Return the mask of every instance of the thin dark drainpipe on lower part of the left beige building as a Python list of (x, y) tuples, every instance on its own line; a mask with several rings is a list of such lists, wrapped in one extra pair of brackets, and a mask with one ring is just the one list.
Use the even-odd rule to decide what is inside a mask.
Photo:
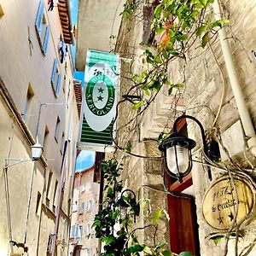
[(61, 218), (61, 202), (63, 197), (63, 191), (64, 191), (64, 184), (65, 184), (65, 162), (67, 158), (67, 143), (68, 141), (64, 143), (64, 151), (63, 151), (63, 157), (62, 157), (62, 163), (61, 163), (61, 185), (59, 190), (59, 201), (56, 208), (56, 219), (55, 219), (55, 232), (52, 239), (52, 251), (51, 256), (55, 256), (55, 249), (56, 249), (56, 241), (58, 236), (58, 230), (59, 230), (59, 224), (60, 224), (60, 218)]

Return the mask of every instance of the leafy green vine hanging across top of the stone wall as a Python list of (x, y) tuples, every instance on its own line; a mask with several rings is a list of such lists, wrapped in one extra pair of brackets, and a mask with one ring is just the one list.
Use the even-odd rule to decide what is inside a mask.
[[(184, 84), (175, 84), (169, 80), (167, 68), (171, 61), (181, 58), (187, 60), (186, 53), (192, 45), (199, 44), (202, 49), (216, 35), (218, 29), (229, 20), (212, 20), (211, 4), (214, 0), (155, 0), (154, 15), (151, 19), (151, 35), (154, 38), (165, 37), (155, 42), (154, 50), (145, 49), (144, 55), (148, 68), (142, 73), (135, 74), (133, 88), (143, 90), (145, 98), (134, 102), (134, 109), (147, 108), (152, 93), (159, 91), (163, 85), (173, 88), (183, 88)], [(125, 3), (123, 15), (134, 19), (141, 1), (128, 0)], [(156, 40), (157, 41), (157, 40)], [(156, 50), (155, 50), (156, 49)], [(185, 82), (185, 81), (184, 81)]]

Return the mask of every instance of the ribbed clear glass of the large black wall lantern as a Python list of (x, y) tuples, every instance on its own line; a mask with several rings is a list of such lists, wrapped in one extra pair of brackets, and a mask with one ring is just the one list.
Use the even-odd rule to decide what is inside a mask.
[(175, 175), (187, 172), (190, 165), (188, 145), (177, 144), (166, 148), (166, 163), (169, 171)]

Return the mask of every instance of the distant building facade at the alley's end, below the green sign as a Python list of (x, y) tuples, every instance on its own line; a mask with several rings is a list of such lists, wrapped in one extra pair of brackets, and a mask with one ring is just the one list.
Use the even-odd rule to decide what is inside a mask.
[(100, 184), (94, 182), (95, 166), (76, 172), (69, 255), (98, 255), (98, 240), (92, 224), (98, 211)]

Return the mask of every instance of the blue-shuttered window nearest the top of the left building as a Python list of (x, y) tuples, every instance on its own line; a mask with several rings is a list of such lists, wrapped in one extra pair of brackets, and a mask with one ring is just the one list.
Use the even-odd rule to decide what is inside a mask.
[(46, 18), (44, 15), (44, 0), (40, 0), (35, 27), (41, 51), (43, 55), (46, 55), (49, 41), (49, 26), (47, 25)]

